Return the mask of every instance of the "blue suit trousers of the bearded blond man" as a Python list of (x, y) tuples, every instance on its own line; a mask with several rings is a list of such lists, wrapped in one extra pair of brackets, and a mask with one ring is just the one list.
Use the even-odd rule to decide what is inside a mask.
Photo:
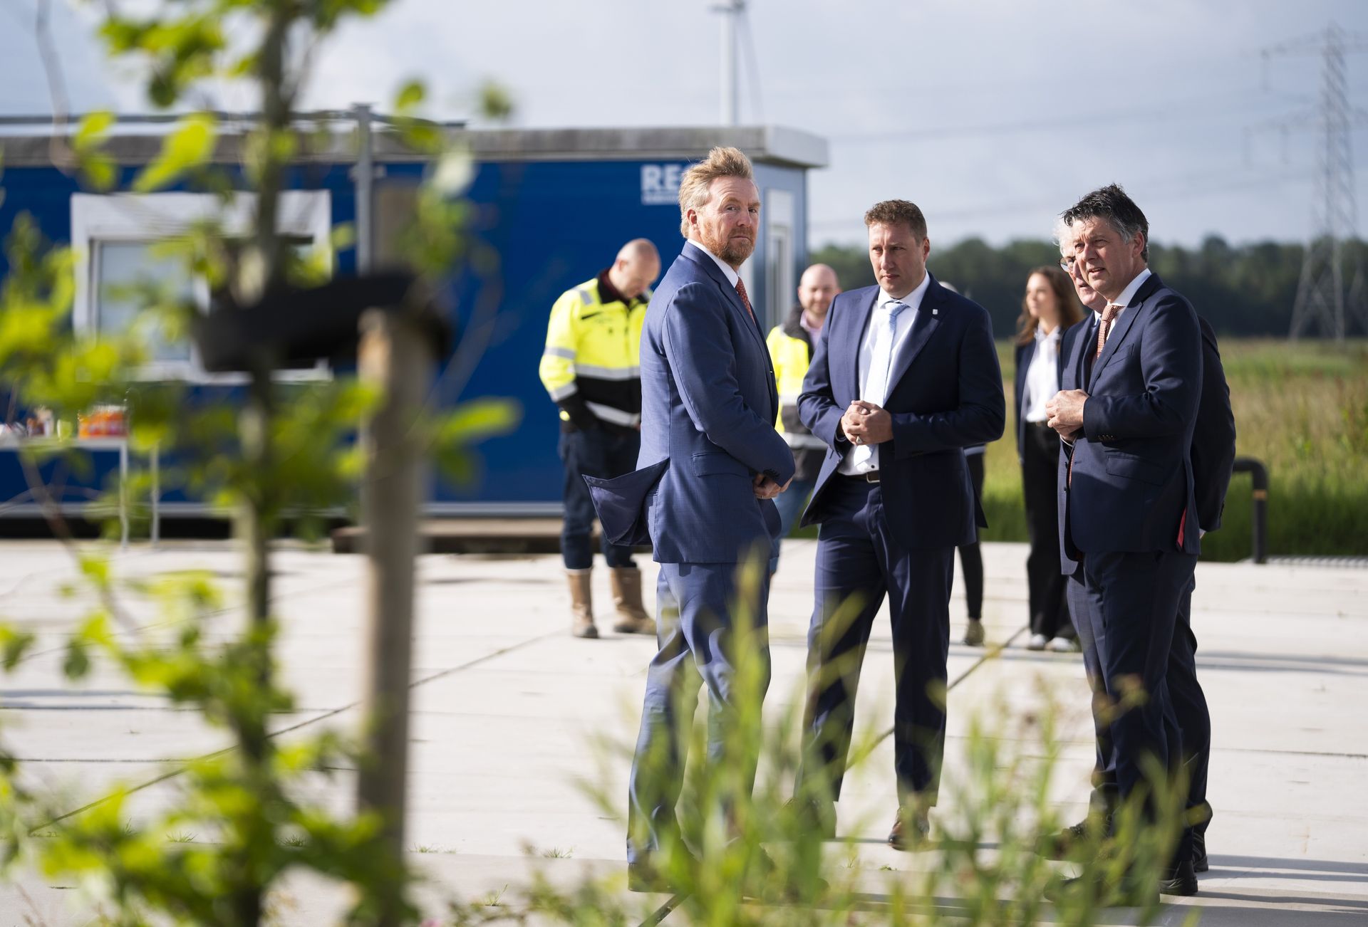
[[(655, 640), (646, 670), (642, 729), (628, 781), (627, 859), (648, 857), (680, 838), (674, 805), (688, 763), (699, 682), (707, 686), (707, 762), (750, 796), (755, 781), (761, 701), (769, 688), (769, 572), (759, 570), (758, 600), (735, 614), (739, 563), (661, 563), (655, 584)], [(744, 625), (743, 625), (744, 622)], [(750, 658), (741, 659), (739, 648)], [(739, 706), (754, 686), (755, 704)], [(754, 730), (739, 729), (754, 726)], [(740, 752), (740, 755), (737, 755)]]

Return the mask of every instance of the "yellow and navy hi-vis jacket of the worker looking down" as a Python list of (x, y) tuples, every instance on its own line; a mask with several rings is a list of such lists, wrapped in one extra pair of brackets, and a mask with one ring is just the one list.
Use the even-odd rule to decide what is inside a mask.
[(570, 420), (565, 403), (577, 397), (601, 421), (625, 428), (642, 422), (642, 324), (650, 297), (602, 302), (594, 278), (551, 306), (538, 373), (564, 421)]

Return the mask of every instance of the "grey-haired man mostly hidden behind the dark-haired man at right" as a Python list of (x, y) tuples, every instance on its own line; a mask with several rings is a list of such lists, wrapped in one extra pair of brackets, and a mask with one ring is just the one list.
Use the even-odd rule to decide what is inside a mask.
[[(1148, 227), (1141, 230), (1149, 234)], [(1093, 290), (1083, 278), (1082, 271), (1074, 261), (1068, 246), (1068, 227), (1060, 223), (1056, 228), (1056, 238), (1060, 242), (1063, 260), (1060, 264), (1068, 271), (1074, 283), (1074, 290), (1079, 301), (1094, 313), (1101, 313), (1107, 306), (1107, 297)], [(1201, 316), (1197, 317), (1201, 327), (1202, 346), (1202, 384), (1201, 399), (1197, 406), (1197, 425), (1193, 429), (1193, 443), (1190, 458), (1193, 466), (1193, 483), (1197, 495), (1197, 520), (1201, 525), (1201, 535), (1220, 528), (1220, 515), (1226, 506), (1226, 489), (1230, 487), (1231, 469), (1235, 462), (1235, 417), (1230, 407), (1230, 386), (1226, 383), (1226, 371), (1220, 362), (1220, 350), (1216, 345), (1216, 332)], [(1090, 324), (1079, 325), (1073, 336), (1096, 335)], [(1073, 338), (1070, 338), (1062, 351), (1067, 355)], [(1205, 872), (1207, 863), (1207, 826), (1211, 823), (1212, 809), (1207, 801), (1207, 770), (1211, 763), (1211, 712), (1207, 708), (1207, 696), (1197, 681), (1197, 637), (1192, 629), (1192, 593), (1196, 580), (1189, 584), (1178, 603), (1178, 621), (1174, 629), (1174, 644), (1168, 654), (1168, 695), (1174, 708), (1174, 719), (1178, 723), (1182, 738), (1183, 762), (1187, 771), (1187, 814), (1193, 824), (1193, 870)], [(1089, 639), (1083, 648), (1083, 663), (1088, 669), (1089, 685), (1094, 692), (1103, 692), (1101, 674), (1099, 669), (1097, 647)], [(1099, 719), (1094, 719), (1099, 721)], [(1108, 725), (1097, 723), (1097, 762), (1093, 770), (1093, 794), (1090, 815), (1096, 822), (1105, 826), (1105, 819), (1118, 805), (1116, 800), (1116, 762), (1111, 751), (1111, 733)], [(1070, 848), (1086, 839), (1090, 827), (1089, 820), (1066, 827), (1060, 834), (1041, 842), (1041, 850), (1047, 855), (1062, 859)]]

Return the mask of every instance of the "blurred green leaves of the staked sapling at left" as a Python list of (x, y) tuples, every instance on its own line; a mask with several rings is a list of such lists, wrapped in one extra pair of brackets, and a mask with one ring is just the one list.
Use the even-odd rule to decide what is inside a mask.
[[(190, 279), (207, 284), (212, 310), (231, 312), (269, 287), (311, 286), (331, 272), (334, 254), (295, 247), (275, 223), (285, 171), (308, 146), (332, 144), (327, 126), (295, 124), (291, 108), (312, 46), (342, 22), (386, 5), (386, 0), (152, 0), (103, 10), (109, 52), (145, 66), (146, 92), (156, 105), (181, 104), (208, 81), (249, 81), (260, 92), (264, 118), (242, 135), (238, 170), (219, 159), (218, 120), (192, 112), (130, 185), (138, 193), (168, 187), (208, 193), (224, 208), (244, 187), (254, 194), (250, 228), (230, 228), (223, 216), (212, 216), (190, 221), (153, 249), (156, 258), (174, 258)], [(394, 130), (432, 157), (415, 231), (405, 239), (413, 268), (428, 278), (419, 290), (431, 293), (435, 279), (458, 272), (472, 254), (461, 198), (472, 170), (466, 153), (447, 150), (439, 126), (416, 115), (424, 97), (419, 82), (401, 88)], [(484, 98), (492, 101), (491, 109), (497, 104), (508, 111), (506, 97), (486, 92)], [(79, 179), (97, 191), (111, 190), (118, 179), (104, 150), (112, 126), (109, 113), (90, 115), (71, 142)], [(341, 230), (332, 245), (350, 241)], [(267, 614), (269, 543), (286, 520), (316, 537), (326, 518), (354, 503), (364, 476), (356, 433), (380, 407), (376, 387), (346, 371), (278, 380), (261, 346), (246, 388), (155, 379), (146, 366), (155, 360), (149, 346), (185, 345), (201, 306), (166, 280), (146, 278), (112, 294), (142, 308), (127, 331), (78, 331), (71, 324), (70, 249), (42, 241), (26, 215), (16, 219), (5, 247), (0, 381), (11, 390), (12, 410), (41, 409), (60, 422), (56, 436), (19, 446), (30, 488), (53, 529), (68, 537), (55, 505), (60, 487), (45, 481), (41, 468), (51, 458), (79, 468), (83, 454), (70, 440), (77, 417), (96, 403), (115, 403), (127, 410), (133, 447), (144, 453), (155, 447), (167, 461), (163, 492), (183, 489), (238, 513), (248, 562), (244, 615), (241, 606), (228, 607), (209, 577), (172, 574), (120, 587), (108, 561), (73, 546), (79, 578), (70, 589), (96, 604), (63, 647), (64, 673), (74, 682), (119, 673), (140, 690), (193, 710), (224, 731), (230, 745), (172, 767), (159, 782), (174, 781), (175, 794), (155, 811), (135, 808), (131, 793), (119, 792), (64, 811), (49, 792), (30, 789), (19, 764), (0, 751), (5, 861), (78, 881), (94, 896), (101, 923), (257, 924), (269, 916), (272, 886), (298, 870), (352, 887), (349, 923), (413, 922), (412, 876), (386, 853), (379, 818), (338, 815), (301, 797), (328, 770), (357, 768), (368, 757), (334, 733), (293, 736), (287, 744), (271, 736), (272, 718), (293, 711), (294, 700), (276, 682), (278, 626)], [(475, 446), (510, 429), (518, 414), (498, 399), (425, 412), (416, 425), (425, 439), (420, 453), (465, 480), (479, 474)], [(112, 515), (115, 494), (140, 494), (146, 485), (148, 474), (137, 473), (127, 485), (111, 487), (92, 511)], [(123, 611), (127, 597), (155, 603), (161, 621), (135, 622)], [(0, 626), (5, 670), (21, 667), (33, 648), (30, 632)]]

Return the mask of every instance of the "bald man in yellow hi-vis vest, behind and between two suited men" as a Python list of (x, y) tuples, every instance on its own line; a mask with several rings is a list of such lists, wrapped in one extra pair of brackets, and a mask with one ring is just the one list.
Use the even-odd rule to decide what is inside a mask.
[(803, 392), (803, 377), (813, 361), (813, 346), (822, 332), (826, 310), (832, 299), (841, 291), (836, 271), (825, 264), (814, 264), (798, 283), (798, 305), (789, 312), (782, 325), (776, 325), (765, 343), (769, 345), (774, 361), (774, 384), (778, 387), (778, 433), (793, 450), (793, 481), (785, 492), (774, 499), (778, 506), (780, 533), (770, 551), (770, 573), (778, 569), (780, 540), (788, 536), (807, 496), (817, 483), (817, 472), (822, 468), (826, 444), (807, 429), (798, 417), (798, 397)]

